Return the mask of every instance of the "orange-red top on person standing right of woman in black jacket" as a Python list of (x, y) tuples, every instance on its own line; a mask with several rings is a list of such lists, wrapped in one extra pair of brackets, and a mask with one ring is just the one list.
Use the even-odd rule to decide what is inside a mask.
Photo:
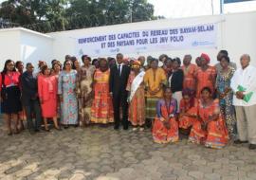
[(197, 66), (195, 64), (190, 64), (188, 67), (185, 65), (182, 66), (182, 70), (184, 73), (183, 80), (183, 89), (192, 89), (195, 90), (195, 73), (197, 70)]

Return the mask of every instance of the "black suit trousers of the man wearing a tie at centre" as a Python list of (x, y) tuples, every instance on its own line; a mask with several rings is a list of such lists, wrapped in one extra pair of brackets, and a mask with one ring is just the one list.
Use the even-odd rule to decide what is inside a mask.
[(120, 107), (122, 108), (122, 125), (123, 128), (128, 128), (128, 102), (127, 102), (128, 93), (122, 92), (119, 94), (113, 95), (113, 106), (114, 106), (114, 120), (115, 127), (119, 127), (120, 123)]

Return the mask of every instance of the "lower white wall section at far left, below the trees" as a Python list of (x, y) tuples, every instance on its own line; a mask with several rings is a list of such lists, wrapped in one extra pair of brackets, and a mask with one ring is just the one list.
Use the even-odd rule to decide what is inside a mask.
[(53, 57), (53, 38), (25, 28), (0, 30), (0, 71), (6, 60), (33, 63), (39, 60), (51, 62)]

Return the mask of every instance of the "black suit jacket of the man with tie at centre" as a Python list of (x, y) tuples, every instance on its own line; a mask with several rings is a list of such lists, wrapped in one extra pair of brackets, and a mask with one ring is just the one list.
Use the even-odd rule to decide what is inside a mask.
[(122, 65), (121, 75), (119, 75), (118, 65), (114, 65), (110, 69), (109, 78), (109, 92), (113, 93), (113, 96), (119, 95), (119, 93), (127, 93), (126, 85), (130, 75), (130, 67), (128, 65)]

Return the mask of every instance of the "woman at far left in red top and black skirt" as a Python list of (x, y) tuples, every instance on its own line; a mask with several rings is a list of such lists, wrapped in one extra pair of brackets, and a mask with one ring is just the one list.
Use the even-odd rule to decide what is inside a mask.
[(7, 123), (8, 135), (12, 135), (11, 118), (14, 121), (14, 134), (19, 133), (18, 113), (22, 110), (21, 91), (20, 91), (20, 73), (16, 72), (13, 61), (8, 60), (5, 63), (4, 70), (0, 77), (1, 108)]

